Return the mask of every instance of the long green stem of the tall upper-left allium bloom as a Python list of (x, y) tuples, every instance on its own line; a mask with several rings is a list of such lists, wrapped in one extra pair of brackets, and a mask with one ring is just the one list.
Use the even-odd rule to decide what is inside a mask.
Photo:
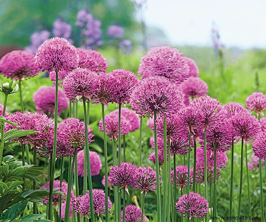
[(58, 118), (58, 71), (56, 71), (54, 144), (53, 144), (53, 153), (52, 153), (52, 163), (50, 169), (49, 204), (48, 204), (49, 220), (53, 219), (53, 189), (54, 189), (55, 167), (56, 167), (57, 118)]

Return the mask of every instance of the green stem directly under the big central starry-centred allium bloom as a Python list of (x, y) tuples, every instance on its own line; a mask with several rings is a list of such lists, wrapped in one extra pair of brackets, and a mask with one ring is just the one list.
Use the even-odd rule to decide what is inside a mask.
[(161, 206), (161, 188), (160, 188), (160, 168), (158, 158), (158, 144), (157, 144), (157, 126), (156, 126), (156, 111), (154, 111), (154, 146), (155, 146), (155, 165), (156, 165), (156, 186), (157, 186), (157, 220), (162, 222), (162, 206)]

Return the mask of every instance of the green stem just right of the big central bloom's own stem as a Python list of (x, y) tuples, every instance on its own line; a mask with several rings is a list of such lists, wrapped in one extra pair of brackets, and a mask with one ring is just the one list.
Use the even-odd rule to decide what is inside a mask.
[[(168, 144), (169, 146), (169, 144)], [(166, 221), (167, 203), (169, 202), (168, 194), (168, 174), (167, 174), (167, 132), (166, 132), (166, 118), (163, 118), (163, 219)]]

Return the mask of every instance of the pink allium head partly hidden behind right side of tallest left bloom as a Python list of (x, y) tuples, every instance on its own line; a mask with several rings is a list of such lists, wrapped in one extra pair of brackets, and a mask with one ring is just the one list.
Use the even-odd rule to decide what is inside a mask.
[(104, 72), (108, 68), (108, 63), (103, 55), (92, 49), (77, 48), (79, 56), (79, 67), (88, 68), (94, 72)]

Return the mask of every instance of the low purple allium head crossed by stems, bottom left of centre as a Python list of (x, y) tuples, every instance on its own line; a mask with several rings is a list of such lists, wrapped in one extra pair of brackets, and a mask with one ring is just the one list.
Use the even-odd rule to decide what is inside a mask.
[[(105, 215), (105, 193), (102, 189), (92, 189), (94, 213), (99, 217)], [(73, 209), (83, 216), (90, 217), (89, 190), (85, 195), (78, 196), (73, 200)], [(112, 202), (108, 197), (108, 213), (111, 212)]]

